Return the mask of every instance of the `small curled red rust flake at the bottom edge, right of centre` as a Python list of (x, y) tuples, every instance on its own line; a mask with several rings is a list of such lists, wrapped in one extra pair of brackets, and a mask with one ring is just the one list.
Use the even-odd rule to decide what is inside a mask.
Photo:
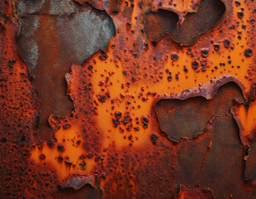
[(214, 197), (210, 190), (200, 189), (199, 187), (188, 189), (182, 185), (180, 186), (180, 193), (175, 196), (175, 199), (214, 199)]

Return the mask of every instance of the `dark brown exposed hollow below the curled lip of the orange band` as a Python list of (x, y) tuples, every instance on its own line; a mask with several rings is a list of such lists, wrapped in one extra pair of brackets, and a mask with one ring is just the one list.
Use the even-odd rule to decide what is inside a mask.
[(194, 138), (203, 133), (206, 124), (214, 115), (229, 113), (234, 101), (244, 102), (238, 85), (228, 83), (219, 88), (213, 99), (194, 97), (182, 101), (180, 99), (160, 99), (155, 105), (157, 117), (162, 131), (168, 138), (180, 141), (181, 138)]

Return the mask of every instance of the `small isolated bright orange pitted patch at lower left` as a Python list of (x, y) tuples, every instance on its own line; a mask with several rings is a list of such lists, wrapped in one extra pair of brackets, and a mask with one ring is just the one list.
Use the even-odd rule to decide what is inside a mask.
[[(49, 163), (56, 168), (61, 178), (67, 177), (71, 172), (91, 172), (95, 162), (93, 159), (81, 158), (83, 149), (80, 132), (76, 124), (71, 125), (70, 129), (57, 130), (57, 142), (53, 143), (52, 147), (47, 143), (44, 143), (41, 148), (36, 147), (32, 151), (31, 159), (39, 164)], [(42, 155), (45, 155), (45, 159)]]

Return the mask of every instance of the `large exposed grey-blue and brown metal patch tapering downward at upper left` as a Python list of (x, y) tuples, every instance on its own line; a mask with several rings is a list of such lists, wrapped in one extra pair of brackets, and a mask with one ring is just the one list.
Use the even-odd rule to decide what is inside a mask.
[(17, 13), (22, 17), (19, 51), (40, 99), (39, 134), (46, 140), (52, 138), (49, 116), (65, 116), (73, 109), (65, 74), (72, 64), (104, 49), (115, 26), (106, 12), (71, 1), (19, 1)]

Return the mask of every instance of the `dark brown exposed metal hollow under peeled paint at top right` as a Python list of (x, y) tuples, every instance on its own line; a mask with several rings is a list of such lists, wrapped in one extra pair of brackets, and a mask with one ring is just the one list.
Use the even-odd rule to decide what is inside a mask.
[(175, 12), (159, 10), (150, 12), (145, 17), (145, 32), (151, 41), (158, 41), (163, 33), (169, 33), (180, 45), (190, 46), (200, 34), (219, 22), (224, 15), (224, 3), (219, 0), (203, 0), (195, 13), (188, 13), (178, 27)]

